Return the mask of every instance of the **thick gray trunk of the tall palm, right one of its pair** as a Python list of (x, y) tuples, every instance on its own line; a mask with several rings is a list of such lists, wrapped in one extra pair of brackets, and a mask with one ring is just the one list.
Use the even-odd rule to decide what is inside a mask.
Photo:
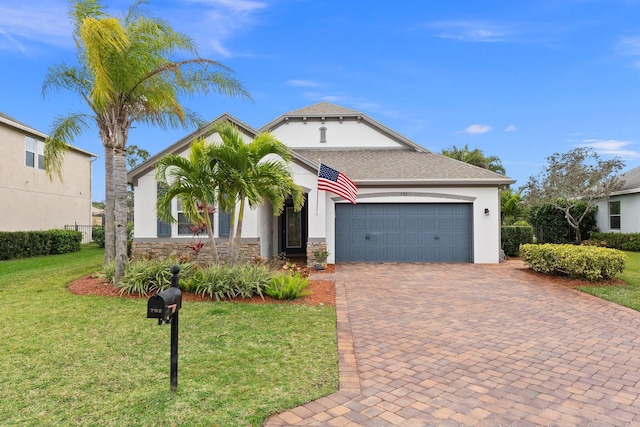
[(114, 284), (118, 284), (127, 266), (127, 165), (124, 144), (113, 152), (113, 183), (115, 193), (116, 272)]

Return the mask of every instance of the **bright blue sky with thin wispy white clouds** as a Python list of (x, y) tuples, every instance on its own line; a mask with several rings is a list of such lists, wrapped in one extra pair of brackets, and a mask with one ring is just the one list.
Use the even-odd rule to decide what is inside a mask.
[[(103, 1), (120, 16), (130, 1)], [(259, 128), (320, 101), (362, 111), (440, 152), (498, 156), (524, 185), (546, 158), (591, 146), (640, 165), (638, 0), (151, 0), (145, 10), (231, 67), (253, 102), (184, 99), (204, 119), (227, 112)], [(48, 67), (75, 63), (67, 0), (0, 0), (0, 111), (47, 133), (87, 111), (42, 96)], [(186, 55), (180, 58), (187, 58)], [(155, 154), (193, 129), (136, 127)], [(97, 131), (73, 144), (102, 155)], [(93, 200), (104, 198), (102, 157)], [(0, 183), (1, 185), (1, 183)]]

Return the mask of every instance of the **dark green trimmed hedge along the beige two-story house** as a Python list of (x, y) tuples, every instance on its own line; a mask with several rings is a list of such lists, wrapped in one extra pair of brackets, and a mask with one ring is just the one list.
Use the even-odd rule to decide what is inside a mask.
[(56, 255), (80, 250), (82, 233), (73, 230), (0, 232), (0, 260)]

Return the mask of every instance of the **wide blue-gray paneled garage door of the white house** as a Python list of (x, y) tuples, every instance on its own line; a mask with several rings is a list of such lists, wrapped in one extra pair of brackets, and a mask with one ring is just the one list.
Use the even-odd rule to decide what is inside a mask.
[(470, 203), (336, 205), (337, 262), (471, 262)]

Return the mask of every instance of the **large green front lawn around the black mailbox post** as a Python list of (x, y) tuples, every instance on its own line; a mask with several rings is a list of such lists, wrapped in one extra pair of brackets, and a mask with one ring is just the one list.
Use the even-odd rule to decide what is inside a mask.
[(146, 299), (65, 289), (102, 258), (0, 262), (2, 424), (259, 426), (337, 390), (333, 307), (185, 302), (171, 393), (171, 326)]

